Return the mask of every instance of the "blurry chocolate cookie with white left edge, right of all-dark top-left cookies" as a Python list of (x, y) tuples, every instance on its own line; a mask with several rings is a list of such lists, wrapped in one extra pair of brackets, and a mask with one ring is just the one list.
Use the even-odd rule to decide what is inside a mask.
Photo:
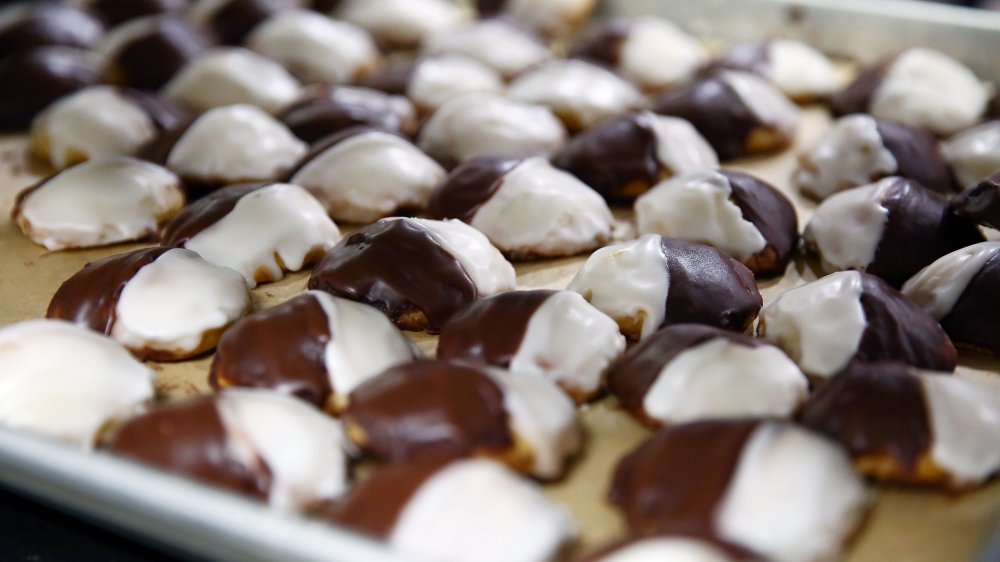
[(153, 16), (115, 27), (94, 50), (126, 85), (158, 90), (212, 42), (208, 34), (180, 18)]

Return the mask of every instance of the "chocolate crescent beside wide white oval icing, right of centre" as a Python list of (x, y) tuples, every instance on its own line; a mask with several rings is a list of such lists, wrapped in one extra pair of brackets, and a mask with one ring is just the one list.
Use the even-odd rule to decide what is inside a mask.
[(618, 397), (622, 408), (647, 425), (660, 426), (659, 422), (649, 419), (644, 413), (643, 400), (646, 393), (660, 376), (660, 371), (677, 355), (715, 338), (726, 338), (746, 347), (766, 345), (760, 339), (711, 326), (667, 326), (654, 332), (622, 356), (608, 373), (608, 388)]

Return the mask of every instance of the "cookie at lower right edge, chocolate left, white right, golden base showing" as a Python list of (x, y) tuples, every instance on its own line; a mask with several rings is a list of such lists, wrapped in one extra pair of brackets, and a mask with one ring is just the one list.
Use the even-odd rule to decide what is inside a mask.
[(902, 363), (852, 364), (806, 403), (802, 424), (887, 482), (983, 484), (1000, 470), (1000, 388)]

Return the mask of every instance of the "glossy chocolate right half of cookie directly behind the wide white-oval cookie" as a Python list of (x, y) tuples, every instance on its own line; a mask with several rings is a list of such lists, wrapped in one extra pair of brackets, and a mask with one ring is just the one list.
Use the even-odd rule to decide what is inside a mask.
[(763, 304), (753, 273), (719, 250), (663, 238), (670, 288), (663, 325), (706, 324), (746, 329)]

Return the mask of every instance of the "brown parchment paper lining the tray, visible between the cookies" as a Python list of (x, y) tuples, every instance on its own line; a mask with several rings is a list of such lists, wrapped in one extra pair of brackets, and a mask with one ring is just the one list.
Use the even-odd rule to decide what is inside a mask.
[[(796, 146), (801, 147), (823, 132), (830, 118), (825, 110), (807, 109)], [(800, 228), (815, 203), (789, 186), (796, 150), (768, 158), (731, 163), (733, 169), (756, 174), (783, 190), (798, 210)], [(9, 219), (14, 195), (47, 172), (26, 151), (23, 137), (0, 138), (0, 326), (41, 318), (49, 299), (63, 280), (88, 261), (127, 251), (140, 245), (70, 252), (47, 252), (21, 235)], [(627, 209), (616, 213), (627, 220)], [(348, 230), (348, 229), (345, 229)], [(989, 232), (991, 238), (1000, 238)], [(518, 264), (521, 289), (563, 289), (583, 263), (584, 257)], [(805, 260), (791, 264), (780, 279), (760, 283), (765, 303), (782, 291), (817, 277)], [(278, 304), (305, 290), (308, 272), (289, 275), (253, 291), (255, 309)], [(421, 350), (432, 356), (436, 339), (410, 334)], [(208, 392), (206, 382), (211, 359), (172, 364), (151, 364), (158, 373), (160, 398), (172, 400)], [(1000, 360), (961, 353), (960, 376), (1000, 384)], [(581, 531), (579, 552), (620, 538), (624, 525), (605, 502), (612, 470), (618, 459), (638, 445), (650, 432), (615, 407), (613, 398), (584, 406), (580, 419), (588, 433), (588, 444), (568, 477), (545, 486), (549, 495), (567, 506)], [(998, 444), (1000, 445), (1000, 444)], [(953, 495), (927, 490), (874, 486), (875, 507), (867, 524), (849, 549), (850, 562), (958, 562), (971, 560), (1000, 518), (1000, 482), (976, 492)], [(252, 530), (248, 530), (252, 532)]]

